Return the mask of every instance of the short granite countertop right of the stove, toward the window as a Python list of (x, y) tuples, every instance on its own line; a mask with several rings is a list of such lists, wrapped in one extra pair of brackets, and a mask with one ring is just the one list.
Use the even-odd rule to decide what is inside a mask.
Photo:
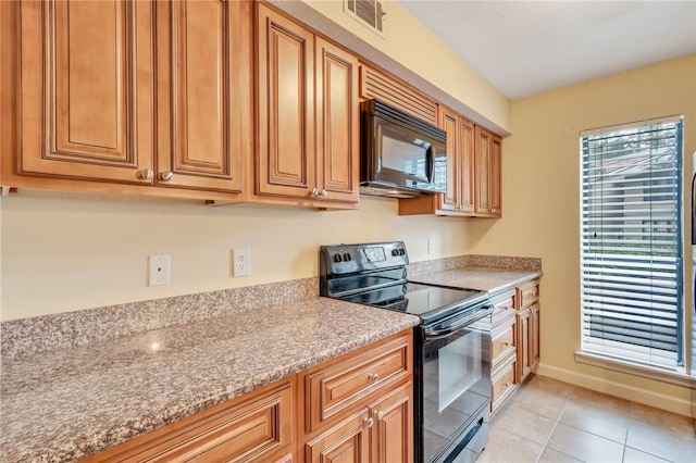
[(453, 268), (411, 277), (413, 281), (488, 291), (489, 295), (512, 288), (542, 276), (542, 271), (507, 270), (483, 266)]

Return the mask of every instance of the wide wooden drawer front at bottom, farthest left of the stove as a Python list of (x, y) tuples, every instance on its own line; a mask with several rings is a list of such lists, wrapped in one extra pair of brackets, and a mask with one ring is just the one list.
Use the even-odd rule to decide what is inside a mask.
[[(294, 383), (283, 381), (164, 426), (86, 462), (275, 461), (293, 442)], [(289, 454), (291, 458), (291, 453)]]

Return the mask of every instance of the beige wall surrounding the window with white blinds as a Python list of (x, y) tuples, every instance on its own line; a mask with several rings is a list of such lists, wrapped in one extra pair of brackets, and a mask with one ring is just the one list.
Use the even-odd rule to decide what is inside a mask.
[[(470, 221), (467, 243), (472, 253), (542, 258), (542, 362), (547, 374), (574, 383), (600, 380), (607, 388), (632, 386), (685, 404), (687, 389), (573, 359), (580, 347), (579, 133), (671, 114), (685, 116), (687, 191), (696, 150), (696, 55), (514, 101), (513, 135), (504, 140), (504, 218)], [(684, 224), (686, 234), (688, 201)], [(686, 251), (691, 262), (689, 246)], [(685, 267), (691, 275), (689, 265)]]

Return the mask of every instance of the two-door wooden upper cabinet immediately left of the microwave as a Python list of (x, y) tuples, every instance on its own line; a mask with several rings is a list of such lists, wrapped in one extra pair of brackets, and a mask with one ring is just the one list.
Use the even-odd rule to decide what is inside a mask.
[(257, 196), (355, 208), (357, 59), (261, 3), (257, 40)]

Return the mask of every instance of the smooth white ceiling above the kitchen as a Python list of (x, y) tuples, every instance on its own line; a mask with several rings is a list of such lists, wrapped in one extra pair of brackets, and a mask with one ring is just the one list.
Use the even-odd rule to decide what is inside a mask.
[(511, 99), (696, 53), (696, 0), (397, 1)]

